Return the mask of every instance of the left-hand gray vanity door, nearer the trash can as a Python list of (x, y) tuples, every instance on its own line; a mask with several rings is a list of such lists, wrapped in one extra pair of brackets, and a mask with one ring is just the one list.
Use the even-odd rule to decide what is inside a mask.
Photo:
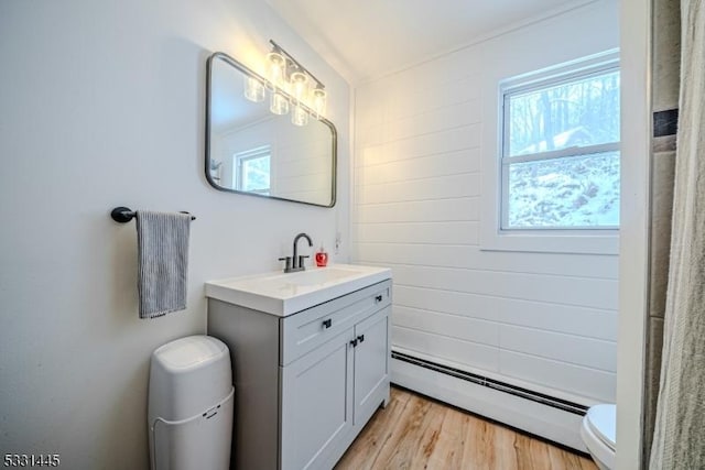
[(281, 368), (281, 469), (317, 468), (352, 428), (352, 328)]

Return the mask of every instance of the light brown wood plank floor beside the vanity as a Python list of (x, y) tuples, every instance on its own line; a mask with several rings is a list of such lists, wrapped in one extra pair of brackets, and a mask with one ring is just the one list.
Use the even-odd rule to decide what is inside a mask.
[(487, 422), (462, 409), (392, 387), (336, 470), (488, 469), (596, 470), (592, 460)]

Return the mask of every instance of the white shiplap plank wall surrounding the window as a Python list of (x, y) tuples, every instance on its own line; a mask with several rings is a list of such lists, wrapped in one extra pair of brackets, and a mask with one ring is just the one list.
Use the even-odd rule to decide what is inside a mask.
[(617, 47), (618, 21), (597, 1), (356, 89), (352, 258), (393, 267), (395, 349), (615, 401), (618, 256), (482, 250), (480, 233), (497, 81)]

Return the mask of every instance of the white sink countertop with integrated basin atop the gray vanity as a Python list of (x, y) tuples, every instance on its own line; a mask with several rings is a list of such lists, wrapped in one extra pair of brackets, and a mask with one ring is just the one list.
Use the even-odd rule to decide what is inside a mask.
[(286, 316), (391, 278), (388, 267), (334, 264), (296, 273), (231, 277), (206, 283), (206, 297)]

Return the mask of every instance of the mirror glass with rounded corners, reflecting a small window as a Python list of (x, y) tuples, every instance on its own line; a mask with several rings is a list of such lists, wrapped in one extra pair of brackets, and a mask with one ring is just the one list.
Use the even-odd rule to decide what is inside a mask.
[[(263, 100), (245, 98), (248, 79), (265, 84)], [(333, 207), (337, 133), (324, 118), (294, 125), (270, 112), (269, 83), (224, 53), (208, 58), (206, 178), (217, 189)], [(285, 96), (292, 100), (290, 96)], [(293, 107), (292, 107), (293, 108)], [(307, 108), (306, 108), (307, 109)]]

